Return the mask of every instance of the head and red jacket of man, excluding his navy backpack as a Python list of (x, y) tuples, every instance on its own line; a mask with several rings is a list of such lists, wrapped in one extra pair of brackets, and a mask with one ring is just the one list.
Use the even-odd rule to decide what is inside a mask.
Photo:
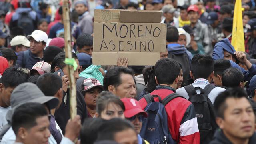
[[(177, 86), (180, 66), (175, 60), (163, 58), (156, 63), (154, 71), (158, 86), (151, 92), (151, 95), (158, 95), (163, 100), (166, 96), (175, 92), (174, 88)], [(158, 98), (154, 98), (154, 100), (159, 101)], [(144, 109), (147, 106), (146, 99), (142, 98), (139, 104)], [(177, 97), (168, 102), (165, 109), (172, 139), (177, 142), (199, 144), (200, 135), (197, 118), (191, 102)]]

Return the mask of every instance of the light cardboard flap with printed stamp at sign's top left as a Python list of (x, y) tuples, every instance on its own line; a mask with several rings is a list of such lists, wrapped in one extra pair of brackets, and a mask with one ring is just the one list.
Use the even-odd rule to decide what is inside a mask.
[(95, 9), (94, 22), (119, 22), (119, 11), (114, 9)]

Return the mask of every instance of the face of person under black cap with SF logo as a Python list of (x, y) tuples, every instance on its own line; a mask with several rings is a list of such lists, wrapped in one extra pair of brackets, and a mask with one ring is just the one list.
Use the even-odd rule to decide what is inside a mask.
[(96, 101), (101, 92), (102, 89), (100, 87), (95, 87), (86, 91), (84, 94), (86, 106), (92, 109), (96, 109)]

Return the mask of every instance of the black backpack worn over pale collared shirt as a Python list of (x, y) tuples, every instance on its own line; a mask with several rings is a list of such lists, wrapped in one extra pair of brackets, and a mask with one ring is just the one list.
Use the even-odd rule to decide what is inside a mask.
[[(185, 86), (185, 90), (188, 92), (189, 101), (194, 105), (196, 110), (196, 117), (198, 128), (200, 132), (200, 144), (208, 144), (214, 135), (216, 128), (218, 128), (215, 122), (215, 112), (211, 100), (208, 98), (208, 94), (216, 86), (208, 84), (204, 89), (195, 87), (190, 84)], [(200, 90), (200, 94), (196, 93), (196, 90)]]

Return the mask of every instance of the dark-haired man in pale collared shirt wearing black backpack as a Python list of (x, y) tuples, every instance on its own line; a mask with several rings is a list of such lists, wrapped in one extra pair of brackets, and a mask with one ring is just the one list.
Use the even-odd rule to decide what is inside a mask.
[[(176, 91), (177, 94), (184, 96), (194, 104), (200, 131), (200, 143), (206, 144), (212, 139), (214, 128), (216, 128), (212, 103), (220, 92), (226, 90), (210, 84), (213, 70), (214, 60), (210, 55), (196, 54), (192, 58), (190, 71), (194, 83)], [(206, 132), (206, 129), (209, 131)]]

